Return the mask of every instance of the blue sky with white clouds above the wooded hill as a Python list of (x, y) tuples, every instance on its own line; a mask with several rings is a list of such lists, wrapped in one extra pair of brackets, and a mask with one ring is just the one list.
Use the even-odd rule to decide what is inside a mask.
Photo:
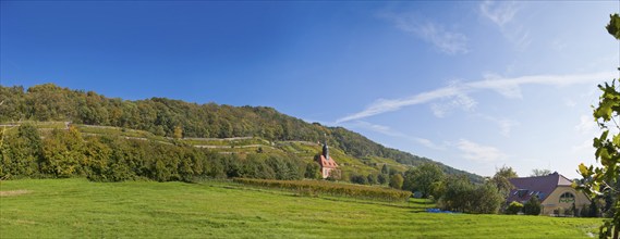
[(2, 1), (0, 84), (268, 105), (457, 168), (576, 177), (617, 1)]

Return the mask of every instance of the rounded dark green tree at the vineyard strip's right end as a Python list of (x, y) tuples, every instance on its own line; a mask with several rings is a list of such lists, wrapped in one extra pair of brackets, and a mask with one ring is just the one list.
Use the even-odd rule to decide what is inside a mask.
[(431, 185), (443, 179), (443, 172), (437, 164), (425, 163), (404, 173), (403, 189), (422, 192), (428, 198)]

